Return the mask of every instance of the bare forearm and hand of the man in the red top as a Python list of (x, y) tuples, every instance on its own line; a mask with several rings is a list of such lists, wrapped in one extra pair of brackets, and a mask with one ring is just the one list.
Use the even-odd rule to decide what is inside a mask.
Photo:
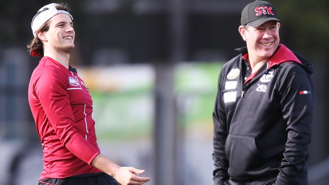
[(150, 178), (138, 176), (138, 174), (144, 173), (145, 170), (136, 169), (134, 167), (121, 167), (108, 160), (102, 154), (98, 154), (93, 159), (91, 165), (112, 176), (121, 185), (143, 184), (150, 180)]

